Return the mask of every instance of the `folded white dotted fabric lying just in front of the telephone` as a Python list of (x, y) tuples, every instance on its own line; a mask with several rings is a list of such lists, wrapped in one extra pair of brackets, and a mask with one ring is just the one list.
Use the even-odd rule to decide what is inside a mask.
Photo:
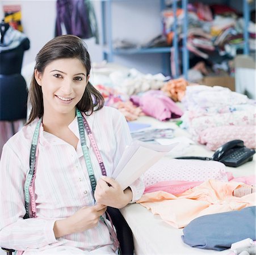
[(209, 179), (227, 181), (225, 165), (217, 161), (161, 159), (142, 175), (146, 187), (160, 181), (205, 181)]

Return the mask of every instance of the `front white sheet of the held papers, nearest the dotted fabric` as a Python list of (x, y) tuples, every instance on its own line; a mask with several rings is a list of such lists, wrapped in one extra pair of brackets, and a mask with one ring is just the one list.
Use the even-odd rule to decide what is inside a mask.
[(117, 176), (112, 176), (112, 178), (114, 178), (121, 185), (123, 190), (131, 185), (133, 181), (137, 180), (142, 173), (152, 167), (152, 165), (160, 160), (164, 155), (166, 155), (167, 152), (175, 147), (175, 145), (150, 145), (149, 147), (157, 147), (161, 151), (140, 146), (125, 164), (125, 167), (117, 174)]

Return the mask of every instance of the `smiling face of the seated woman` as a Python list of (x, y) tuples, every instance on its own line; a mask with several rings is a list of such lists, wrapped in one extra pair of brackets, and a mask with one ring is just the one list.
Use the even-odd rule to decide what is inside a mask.
[(35, 78), (43, 92), (44, 113), (74, 112), (85, 92), (89, 76), (78, 58), (61, 58), (49, 63)]

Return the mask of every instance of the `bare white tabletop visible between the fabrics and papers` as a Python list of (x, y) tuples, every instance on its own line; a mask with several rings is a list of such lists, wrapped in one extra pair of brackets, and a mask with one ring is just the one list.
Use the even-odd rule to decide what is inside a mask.
[[(174, 121), (161, 122), (152, 117), (142, 116), (135, 122), (152, 124), (156, 128), (173, 128), (175, 137), (185, 136), (191, 138), (186, 130), (182, 130)], [(204, 145), (190, 145), (183, 156), (212, 156), (213, 151)], [(255, 175), (255, 155), (252, 162), (247, 162), (238, 168), (227, 167), (227, 172), (232, 172), (234, 177)], [(174, 228), (163, 222), (159, 215), (153, 215), (140, 204), (127, 205), (121, 209), (125, 220), (133, 232), (135, 253), (139, 254), (229, 254), (230, 250), (217, 252), (192, 248), (183, 243), (182, 229)]]

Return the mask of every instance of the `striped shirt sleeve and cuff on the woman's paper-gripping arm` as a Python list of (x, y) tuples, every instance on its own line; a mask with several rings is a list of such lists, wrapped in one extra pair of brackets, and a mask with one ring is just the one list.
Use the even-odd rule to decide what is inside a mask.
[[(116, 125), (117, 124), (117, 125)], [(116, 152), (115, 152), (115, 162), (114, 165), (116, 166), (119, 162), (121, 155), (123, 154), (125, 147), (131, 144), (132, 137), (131, 133), (125, 120), (123, 114), (120, 114), (119, 120), (116, 122), (115, 126), (118, 127), (116, 130)], [(130, 203), (134, 203), (139, 200), (144, 193), (145, 185), (141, 178), (134, 181), (130, 186), (132, 190), (132, 201)]]

